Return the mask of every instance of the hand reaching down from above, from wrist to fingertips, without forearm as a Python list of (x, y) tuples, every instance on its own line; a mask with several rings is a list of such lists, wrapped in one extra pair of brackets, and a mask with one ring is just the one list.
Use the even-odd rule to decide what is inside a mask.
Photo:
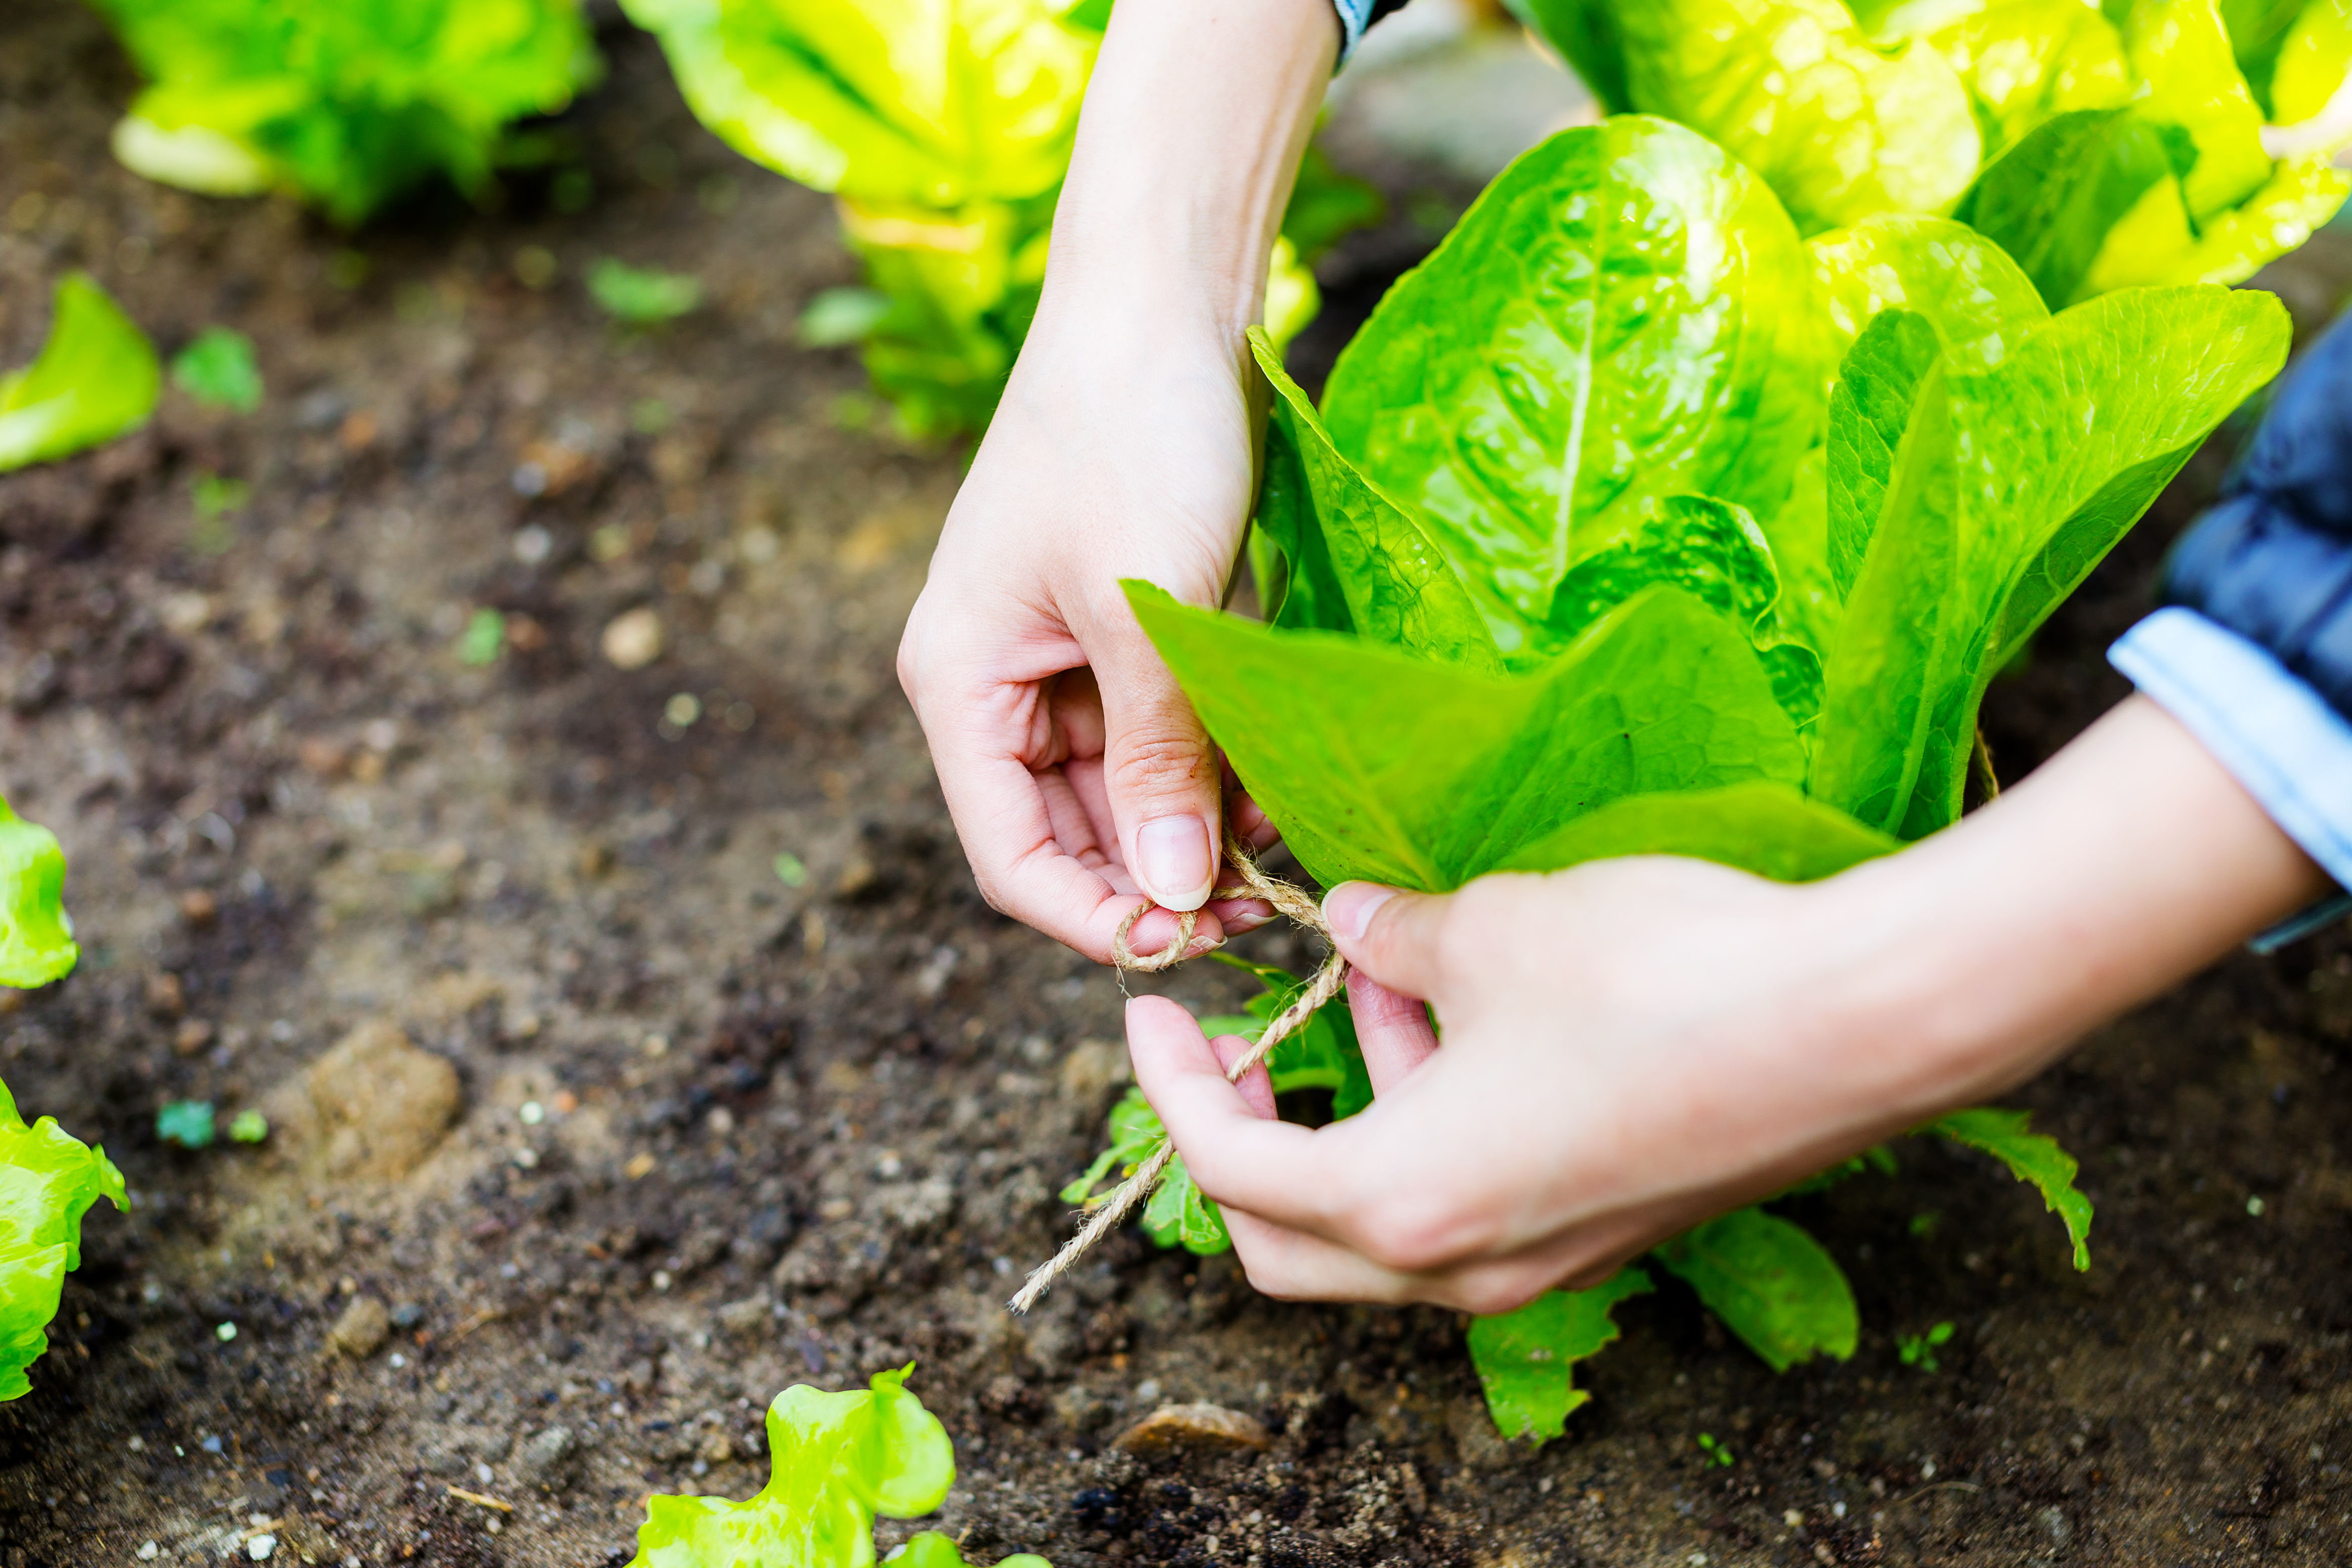
[[(1120, 578), (1218, 604), (1254, 491), (1240, 357), (1131, 303), (1037, 322), (898, 649), (981, 893), (1096, 961), (1138, 896), (1134, 950), (1167, 947), (1223, 844), (1216, 750)], [(1272, 837), (1247, 799), (1235, 830)], [(1195, 950), (1265, 917), (1216, 903)]]

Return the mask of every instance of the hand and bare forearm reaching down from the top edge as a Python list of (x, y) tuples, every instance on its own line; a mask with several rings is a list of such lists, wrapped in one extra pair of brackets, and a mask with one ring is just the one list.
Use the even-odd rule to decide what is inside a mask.
[[(1223, 844), (1223, 766), (1120, 578), (1214, 607), (1254, 496), (1247, 327), (1338, 49), (1329, 0), (1120, 0), (1044, 299), (898, 649), (997, 910), (1110, 961), (1164, 950)], [(1272, 839), (1237, 806), (1235, 830)], [(1268, 917), (1216, 905), (1195, 950)]]

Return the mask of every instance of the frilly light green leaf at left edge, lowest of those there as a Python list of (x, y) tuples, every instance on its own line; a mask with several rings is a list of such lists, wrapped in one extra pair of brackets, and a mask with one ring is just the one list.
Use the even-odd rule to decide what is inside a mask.
[(68, 1138), (54, 1117), (26, 1126), (0, 1084), (0, 1401), (33, 1387), (26, 1368), (49, 1349), (66, 1274), (82, 1267), (82, 1215), (101, 1197), (129, 1208), (106, 1150)]

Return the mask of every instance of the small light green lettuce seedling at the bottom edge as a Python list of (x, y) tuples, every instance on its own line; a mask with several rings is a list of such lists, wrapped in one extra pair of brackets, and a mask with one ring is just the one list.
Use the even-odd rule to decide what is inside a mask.
[[(652, 1497), (630, 1568), (868, 1568), (875, 1516), (920, 1519), (948, 1500), (955, 1443), (906, 1392), (913, 1363), (875, 1373), (866, 1392), (793, 1385), (767, 1408), (774, 1465), (760, 1495)], [(946, 1535), (891, 1554), (913, 1568), (962, 1568)], [(1047, 1568), (1044, 1559), (1004, 1559)]]

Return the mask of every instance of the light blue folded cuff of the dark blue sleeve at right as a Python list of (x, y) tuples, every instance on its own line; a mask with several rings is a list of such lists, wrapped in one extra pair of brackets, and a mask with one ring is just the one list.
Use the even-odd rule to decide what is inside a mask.
[[(2352, 886), (2352, 724), (2260, 644), (2159, 609), (2107, 651), (2338, 884)], [(2336, 896), (2253, 940), (2270, 952), (2352, 912)]]

